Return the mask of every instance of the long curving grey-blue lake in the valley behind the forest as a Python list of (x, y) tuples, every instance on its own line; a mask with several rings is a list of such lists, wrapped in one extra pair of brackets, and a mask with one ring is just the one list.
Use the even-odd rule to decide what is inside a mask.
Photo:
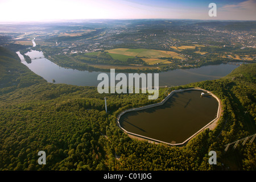
[[(20, 59), (24, 59), (19, 52), (16, 52)], [(44, 57), (43, 52), (30, 51), (26, 55), (30, 58)], [(78, 86), (97, 86), (101, 81), (97, 80), (98, 74), (102, 72), (79, 71), (71, 68), (63, 68), (52, 63), (46, 58), (32, 60), (30, 64), (22, 61), (32, 72), (42, 76), (48, 82), (55, 80), (55, 84), (71, 84)], [(175, 69), (167, 72), (159, 73), (159, 86), (178, 86), (191, 82), (214, 80), (228, 75), (238, 65), (234, 64), (218, 64), (206, 65), (200, 68), (191, 69)], [(110, 76), (109, 72), (106, 72)]]

